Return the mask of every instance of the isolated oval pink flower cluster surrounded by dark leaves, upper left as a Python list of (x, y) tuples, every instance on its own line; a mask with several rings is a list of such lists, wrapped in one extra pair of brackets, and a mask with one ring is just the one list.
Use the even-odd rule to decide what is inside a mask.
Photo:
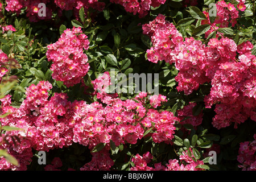
[(89, 48), (89, 41), (82, 34), (81, 27), (73, 27), (72, 30), (67, 28), (59, 40), (47, 48), (47, 59), (53, 62), (53, 79), (63, 81), (68, 87), (78, 84), (90, 68), (88, 57), (83, 52)]

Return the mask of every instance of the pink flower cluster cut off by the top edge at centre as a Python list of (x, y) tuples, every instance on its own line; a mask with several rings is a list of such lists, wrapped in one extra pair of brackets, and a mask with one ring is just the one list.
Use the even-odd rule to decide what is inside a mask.
[(125, 10), (133, 15), (139, 14), (139, 17), (142, 18), (148, 14), (150, 7), (158, 7), (161, 4), (164, 4), (166, 0), (110, 0), (110, 2), (122, 5)]

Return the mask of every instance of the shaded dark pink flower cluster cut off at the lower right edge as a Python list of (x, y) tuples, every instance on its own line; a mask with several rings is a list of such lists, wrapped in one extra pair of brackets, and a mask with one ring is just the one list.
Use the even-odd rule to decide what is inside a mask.
[(241, 142), (237, 160), (241, 163), (238, 167), (243, 171), (256, 171), (256, 134), (252, 142)]

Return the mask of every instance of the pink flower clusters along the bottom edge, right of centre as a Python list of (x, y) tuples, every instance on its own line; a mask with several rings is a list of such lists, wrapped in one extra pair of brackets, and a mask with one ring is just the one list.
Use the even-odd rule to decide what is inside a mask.
[[(189, 150), (192, 153), (191, 148)], [(163, 166), (162, 163), (155, 163), (154, 167), (148, 166), (148, 163), (151, 162), (153, 156), (150, 152), (146, 152), (143, 156), (137, 154), (131, 159), (134, 163), (134, 167), (131, 167), (131, 171), (201, 171), (201, 168), (196, 168), (198, 165), (203, 165), (204, 162), (201, 160), (196, 160), (195, 156), (188, 156), (187, 151), (184, 151), (180, 155), (180, 162), (177, 159), (170, 159), (166, 166)]]

